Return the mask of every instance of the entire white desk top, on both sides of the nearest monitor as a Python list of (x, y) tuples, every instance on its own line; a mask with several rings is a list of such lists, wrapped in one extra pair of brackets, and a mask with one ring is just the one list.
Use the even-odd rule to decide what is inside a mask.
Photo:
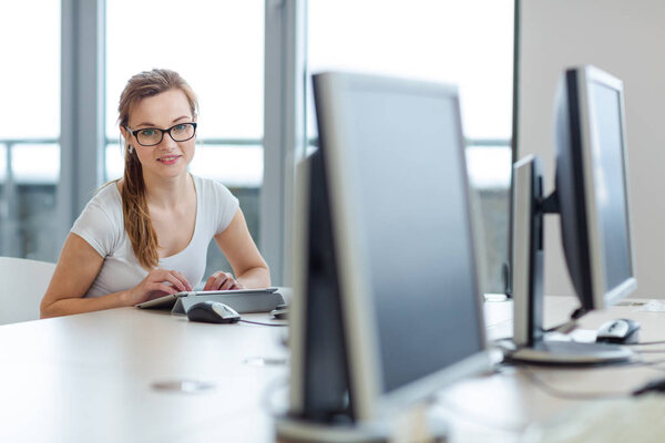
[[(570, 298), (548, 297), (545, 326), (562, 322), (573, 308)], [(665, 339), (665, 312), (638, 308), (592, 312), (582, 326), (595, 329), (626, 317), (641, 322), (643, 341)], [(510, 302), (489, 302), (485, 312), (490, 339), (510, 334)], [(285, 330), (191, 323), (134, 308), (2, 326), (0, 441), (273, 441), (268, 403), (279, 404), (287, 392)], [(645, 367), (528, 371), (508, 368), (444, 390), (433, 413), (450, 422), (450, 441), (516, 442), (529, 424), (584, 404), (546, 393), (529, 374), (577, 393), (627, 393), (663, 377)], [(200, 393), (153, 388), (185, 380), (215, 388)]]

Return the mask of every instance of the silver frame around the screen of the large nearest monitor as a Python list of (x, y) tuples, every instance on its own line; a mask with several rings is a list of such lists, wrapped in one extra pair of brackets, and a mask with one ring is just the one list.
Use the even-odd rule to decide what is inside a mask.
[[(401, 79), (389, 79), (383, 76), (348, 74), (348, 73), (323, 73), (316, 75), (317, 94), (327, 103), (326, 106), (317, 105), (319, 121), (328, 127), (340, 127), (338, 123), (344, 121), (346, 104), (341, 99), (340, 92), (350, 87), (371, 87), (389, 89), (391, 91), (401, 90), (407, 93), (428, 94), (431, 96), (441, 96), (446, 100), (456, 102), (456, 130), (460, 140), (460, 164), (466, 165), (463, 158), (463, 133), (461, 126), (461, 116), (459, 107), (458, 90), (454, 86), (426, 83), (419, 81), (408, 81)], [(472, 257), (475, 264), (475, 303), (479, 322), (479, 337), (481, 338), (481, 351), (453, 363), (438, 372), (416, 380), (409, 384), (400, 387), (388, 393), (381, 390), (383, 374), (379, 364), (379, 348), (377, 337), (377, 324), (371, 313), (372, 290), (368, 272), (367, 250), (364, 250), (362, 233), (360, 229), (352, 229), (359, 222), (359, 212), (354, 208), (359, 205), (356, 193), (354, 193), (352, 183), (345, 178), (347, 164), (350, 158), (349, 151), (351, 143), (348, 142), (348, 135), (342, 132), (328, 131), (319, 136), (325, 136), (321, 144), (326, 164), (326, 174), (330, 189), (330, 212), (334, 220), (334, 238), (338, 254), (338, 266), (340, 268), (340, 287), (342, 312), (345, 317), (345, 332), (349, 346), (349, 370), (351, 372), (350, 384), (352, 391), (352, 403), (356, 418), (360, 421), (374, 421), (380, 418), (389, 416), (396, 411), (403, 409), (405, 404), (431, 396), (432, 392), (443, 387), (479, 373), (490, 367), (490, 356), (487, 350), (487, 338), (483, 319), (483, 296), (479, 286), (479, 268), (477, 245), (474, 241), (474, 224), (472, 223), (470, 207), (470, 189), (467, 178), (467, 171), (463, 171), (466, 178), (464, 192), (467, 194), (467, 214), (471, 229), (473, 243)], [(357, 297), (364, 293), (367, 297)], [(351, 339), (352, 338), (352, 339)]]

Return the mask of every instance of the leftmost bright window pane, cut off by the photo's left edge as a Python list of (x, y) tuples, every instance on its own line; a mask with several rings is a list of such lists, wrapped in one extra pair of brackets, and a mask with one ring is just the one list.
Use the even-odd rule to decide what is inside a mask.
[(7, 61), (0, 82), (3, 256), (53, 261), (62, 246), (52, 235), (60, 177), (60, 4), (19, 1), (0, 14)]

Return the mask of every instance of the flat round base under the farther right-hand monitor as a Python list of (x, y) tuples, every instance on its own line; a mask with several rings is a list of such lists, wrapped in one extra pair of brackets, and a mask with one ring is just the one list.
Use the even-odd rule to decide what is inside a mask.
[(626, 362), (633, 351), (618, 344), (577, 341), (539, 341), (515, 350), (512, 361), (544, 365), (595, 365)]

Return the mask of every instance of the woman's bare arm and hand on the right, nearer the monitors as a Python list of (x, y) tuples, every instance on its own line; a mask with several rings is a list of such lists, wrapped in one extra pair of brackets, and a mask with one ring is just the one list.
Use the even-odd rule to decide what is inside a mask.
[(270, 270), (266, 260), (260, 256), (239, 208), (228, 227), (215, 236), (215, 241), (231, 264), (236, 275), (235, 280), (239, 285), (235, 285), (233, 276), (218, 271), (208, 278), (204, 290), (239, 287), (267, 288), (270, 286)]

